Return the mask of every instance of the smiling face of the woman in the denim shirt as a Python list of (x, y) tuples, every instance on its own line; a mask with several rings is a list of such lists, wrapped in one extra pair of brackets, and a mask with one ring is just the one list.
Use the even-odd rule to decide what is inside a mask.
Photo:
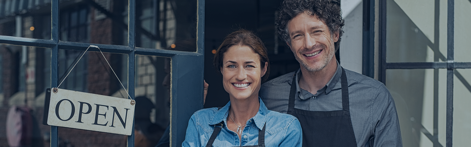
[(235, 45), (227, 49), (222, 59), (222, 80), (229, 97), (258, 98), (261, 77), (267, 71), (260, 65), (260, 57), (247, 46)]

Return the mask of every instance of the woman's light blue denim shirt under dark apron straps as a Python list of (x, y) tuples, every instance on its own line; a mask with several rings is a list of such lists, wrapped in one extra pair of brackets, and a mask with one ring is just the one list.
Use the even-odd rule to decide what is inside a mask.
[(259, 97), (259, 112), (246, 122), (241, 139), (234, 131), (227, 129), (227, 117), (231, 102), (218, 110), (217, 107), (196, 111), (188, 122), (187, 134), (182, 147), (205, 147), (214, 124), (224, 122), (214, 147), (237, 147), (258, 145), (259, 130), (265, 126), (265, 147), (301, 147), (302, 131), (298, 119), (290, 114), (268, 110)]

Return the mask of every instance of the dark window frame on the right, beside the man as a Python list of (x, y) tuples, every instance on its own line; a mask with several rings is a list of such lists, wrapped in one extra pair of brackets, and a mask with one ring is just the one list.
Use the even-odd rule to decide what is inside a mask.
[[(447, 69), (447, 120), (446, 120), (446, 147), (453, 145), (453, 89), (454, 75), (468, 85), (458, 71), (455, 69), (469, 69), (471, 62), (455, 62), (454, 61), (454, 29), (455, 29), (455, 0), (447, 0), (447, 57), (442, 56), (440, 59), (444, 62), (386, 62), (386, 3), (387, 0), (378, 0), (378, 67), (374, 67), (374, 4), (375, 0), (363, 0), (363, 74), (374, 77), (374, 70), (378, 72), (378, 80), (385, 85), (387, 69)], [(437, 3), (435, 4), (437, 5)], [(443, 6), (442, 6), (443, 7)], [(438, 108), (434, 108), (438, 109)], [(438, 116), (434, 116), (438, 117)], [(437, 119), (437, 118), (435, 118)], [(432, 132), (426, 134), (428, 139), (433, 142), (434, 147), (439, 147), (438, 134)]]

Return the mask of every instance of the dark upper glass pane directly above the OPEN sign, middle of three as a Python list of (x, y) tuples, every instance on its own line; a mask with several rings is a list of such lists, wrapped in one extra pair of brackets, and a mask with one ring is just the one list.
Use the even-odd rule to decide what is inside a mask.
[(128, 45), (128, 0), (61, 0), (61, 41)]

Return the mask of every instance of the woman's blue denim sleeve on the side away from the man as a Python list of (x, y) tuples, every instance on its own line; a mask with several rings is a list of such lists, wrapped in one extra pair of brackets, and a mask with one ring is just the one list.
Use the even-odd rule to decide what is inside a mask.
[(182, 147), (200, 147), (201, 140), (199, 138), (199, 133), (196, 130), (196, 118), (195, 114), (191, 115), (190, 120), (188, 121), (187, 133), (185, 135), (185, 141), (181, 144)]

